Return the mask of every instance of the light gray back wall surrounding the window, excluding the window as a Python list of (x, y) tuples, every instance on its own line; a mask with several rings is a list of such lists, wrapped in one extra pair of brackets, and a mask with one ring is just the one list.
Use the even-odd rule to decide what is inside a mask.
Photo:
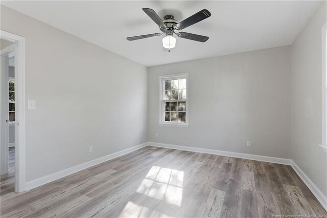
[[(291, 158), (290, 65), (286, 46), (149, 68), (149, 141)], [(190, 127), (158, 126), (158, 76), (184, 72)]]

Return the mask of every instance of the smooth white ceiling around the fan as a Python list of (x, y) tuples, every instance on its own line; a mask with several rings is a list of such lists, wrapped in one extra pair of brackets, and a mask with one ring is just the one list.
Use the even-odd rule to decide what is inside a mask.
[[(291, 45), (320, 1), (2, 1), (1, 4), (43, 21), (145, 66)], [(163, 19), (181, 21), (201, 9), (212, 16), (184, 29), (209, 36), (202, 43), (177, 38), (176, 48), (162, 52), (160, 33), (143, 12), (152, 8)]]

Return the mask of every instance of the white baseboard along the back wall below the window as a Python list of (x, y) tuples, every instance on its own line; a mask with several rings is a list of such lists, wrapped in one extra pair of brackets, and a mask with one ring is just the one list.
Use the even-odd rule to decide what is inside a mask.
[(177, 150), (200, 152), (200, 153), (211, 154), (211, 155), (221, 155), (221, 156), (228, 156), (228, 157), (233, 157), (233, 158), (243, 158), (243, 159), (254, 160), (254, 161), (264, 161), (264, 162), (278, 163), (278, 164), (285, 164), (285, 165), (292, 164), (291, 159), (285, 159), (285, 158), (274, 158), (274, 157), (261, 156), (261, 155), (244, 154), (244, 153), (239, 153), (239, 152), (206, 149), (206, 148), (198, 148), (198, 147), (188, 147), (188, 146), (172, 145), (172, 144), (163, 144), (163, 143), (156, 143), (156, 142), (148, 142), (148, 144), (155, 146), (155, 147), (165, 147), (165, 148), (172, 148), (172, 149), (177, 149)]

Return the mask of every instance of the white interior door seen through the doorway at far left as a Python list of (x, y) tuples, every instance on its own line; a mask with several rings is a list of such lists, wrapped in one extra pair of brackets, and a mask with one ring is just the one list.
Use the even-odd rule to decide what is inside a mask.
[(8, 54), (1, 57), (1, 146), (0, 146), (0, 174), (8, 173), (9, 155), (9, 101), (8, 101), (8, 75), (9, 57)]

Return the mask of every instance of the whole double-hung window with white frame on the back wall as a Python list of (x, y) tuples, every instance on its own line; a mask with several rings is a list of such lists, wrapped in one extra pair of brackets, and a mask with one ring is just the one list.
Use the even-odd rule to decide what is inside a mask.
[(188, 127), (188, 74), (159, 77), (159, 125)]

